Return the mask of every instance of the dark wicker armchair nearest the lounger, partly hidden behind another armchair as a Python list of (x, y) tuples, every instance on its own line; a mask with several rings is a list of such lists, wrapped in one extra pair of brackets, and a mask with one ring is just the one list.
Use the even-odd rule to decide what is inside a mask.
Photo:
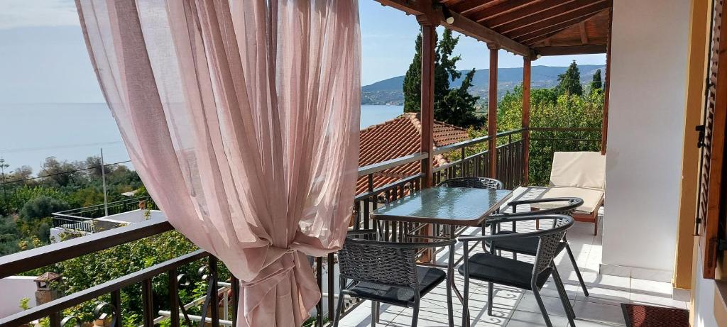
[[(533, 200), (523, 200), (523, 201), (512, 201), (510, 203), (507, 203), (508, 206), (513, 207), (513, 213), (505, 214), (507, 217), (523, 217), (523, 216), (532, 216), (534, 212), (532, 211), (524, 211), (522, 213), (518, 213), (517, 209), (518, 206), (522, 205), (530, 205), (535, 203), (551, 203), (551, 202), (563, 202), (565, 203), (563, 206), (553, 207), (550, 209), (542, 209), (537, 211), (537, 214), (565, 214), (566, 216), (573, 217), (574, 211), (579, 207), (583, 205), (583, 200), (580, 198), (539, 198), (539, 199), (533, 199)], [(497, 225), (499, 227), (499, 225)], [(493, 230), (493, 235), (505, 235), (505, 234), (513, 234), (517, 233), (515, 222), (513, 222), (513, 229), (512, 230)], [(517, 259), (517, 254), (526, 254), (529, 256), (535, 256), (537, 254), (537, 247), (538, 247), (538, 239), (537, 238), (524, 238), (524, 239), (518, 239), (518, 240), (504, 240), (504, 241), (497, 241), (494, 242), (491, 245), (492, 250), (499, 250), (499, 251), (508, 251), (513, 252), (513, 255), (515, 256), (515, 259)], [(571, 251), (571, 246), (569, 246), (568, 240), (566, 239), (566, 235), (563, 235), (563, 241), (561, 242), (561, 245), (558, 247), (558, 252), (556, 255), (560, 254), (563, 249), (566, 249), (566, 252), (568, 253), (568, 257), (571, 259), (571, 265), (573, 265), (573, 269), (576, 272), (576, 276), (578, 278), (578, 282), (581, 284), (581, 288), (583, 290), (583, 294), (585, 296), (588, 296), (588, 289), (586, 288), (586, 284), (583, 281), (583, 277), (581, 275), (581, 270), (578, 268), (578, 264), (576, 263), (576, 258), (573, 255), (573, 251)]]

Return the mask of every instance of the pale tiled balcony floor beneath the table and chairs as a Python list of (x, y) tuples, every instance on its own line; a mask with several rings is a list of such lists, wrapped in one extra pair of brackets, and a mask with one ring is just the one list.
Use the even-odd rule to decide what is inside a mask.
[[(520, 209), (518, 208), (518, 211)], [(534, 226), (529, 226), (533, 228)], [(518, 230), (528, 226), (518, 224)], [(467, 230), (478, 234), (478, 229)], [(638, 303), (686, 309), (686, 302), (671, 298), (671, 284), (651, 280), (638, 280), (610, 275), (599, 275), (601, 263), (601, 233), (593, 235), (593, 225), (577, 222), (569, 230), (571, 249), (581, 268), (590, 296), (584, 296), (571, 262), (565, 251), (555, 259), (558, 270), (566, 284), (566, 293), (576, 314), (577, 326), (624, 326), (621, 303)], [(462, 249), (457, 250), (461, 255)], [(446, 258), (441, 254), (439, 258)], [(518, 259), (531, 259), (519, 257)], [(462, 289), (462, 278), (456, 273), (457, 286)], [(541, 291), (545, 307), (553, 326), (568, 326), (561, 300), (553, 280), (549, 280)], [(422, 298), (419, 311), (419, 326), (446, 326), (446, 293), (444, 283)], [(516, 288), (496, 285), (494, 289), (493, 315), (486, 313), (487, 287), (476, 280), (470, 283), (470, 315), (472, 326), (545, 326), (545, 321), (535, 301), (534, 294)], [(410, 326), (412, 310), (382, 304), (377, 326)], [(462, 324), (462, 304), (454, 299), (455, 326)], [(340, 326), (371, 326), (371, 306), (366, 301), (342, 318)]]

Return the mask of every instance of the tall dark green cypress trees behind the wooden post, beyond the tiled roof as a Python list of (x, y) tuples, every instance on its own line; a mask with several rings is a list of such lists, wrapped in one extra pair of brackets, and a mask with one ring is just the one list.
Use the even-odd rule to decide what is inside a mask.
[[(435, 37), (436, 34), (435, 34)], [(459, 36), (452, 36), (452, 32), (445, 29), (441, 40), (435, 40), (437, 47), (434, 58), (434, 118), (438, 121), (457, 125), (481, 127), (484, 119), (475, 115), (477, 110), (475, 97), (468, 92), (472, 86), (475, 69), (465, 76), (462, 85), (451, 89), (450, 82), (462, 77), (457, 71), (457, 62), (462, 59), (459, 55), (452, 56), (454, 47), (459, 42)], [(422, 34), (419, 33), (414, 43), (416, 53), (414, 59), (406, 70), (403, 82), (404, 112), (418, 113), (421, 110), (421, 84), (422, 84)]]

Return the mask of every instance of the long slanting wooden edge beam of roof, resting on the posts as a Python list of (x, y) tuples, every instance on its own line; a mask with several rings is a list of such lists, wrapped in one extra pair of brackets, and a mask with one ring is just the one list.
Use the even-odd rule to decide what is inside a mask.
[(452, 31), (457, 31), (466, 36), (471, 36), (479, 41), (487, 44), (497, 44), (502, 49), (513, 52), (516, 55), (529, 56), (531, 49), (525, 44), (521, 44), (513, 39), (507, 38), (496, 31), (486, 28), (480, 23), (470, 20), (469, 18), (451, 12), (454, 17), (454, 23), (449, 24), (444, 21), (441, 9), (435, 7), (431, 0), (407, 1), (407, 0), (375, 0), (385, 6), (393, 7), (406, 12), (410, 15), (425, 16), (432, 20), (432, 23), (442, 25)]

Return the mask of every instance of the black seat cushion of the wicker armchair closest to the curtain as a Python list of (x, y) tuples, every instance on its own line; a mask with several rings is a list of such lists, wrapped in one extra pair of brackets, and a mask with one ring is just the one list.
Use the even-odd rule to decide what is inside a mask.
[[(424, 296), (446, 278), (443, 270), (431, 267), (417, 267), (419, 279), (419, 296)], [(407, 306), (414, 302), (414, 291), (411, 288), (384, 286), (378, 283), (361, 282), (343, 290), (343, 293), (360, 299)]]

